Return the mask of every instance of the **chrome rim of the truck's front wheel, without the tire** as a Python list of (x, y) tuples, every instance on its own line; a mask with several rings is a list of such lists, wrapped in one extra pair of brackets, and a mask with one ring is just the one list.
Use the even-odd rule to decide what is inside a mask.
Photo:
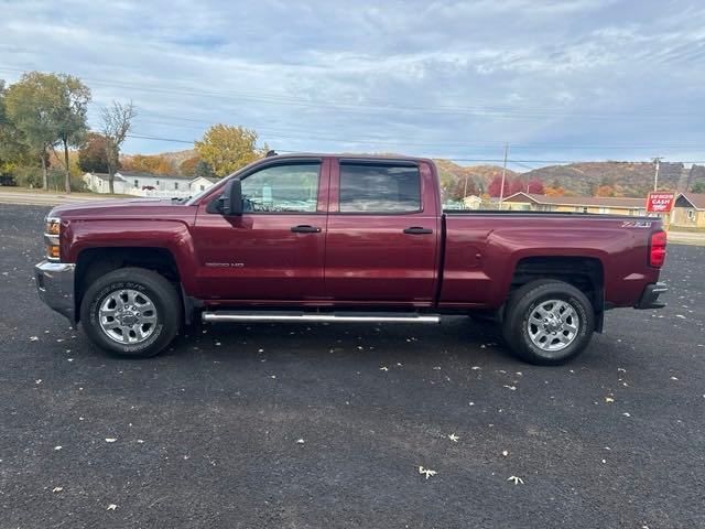
[(156, 306), (148, 295), (132, 289), (110, 292), (98, 310), (100, 330), (119, 344), (140, 344), (156, 327)]

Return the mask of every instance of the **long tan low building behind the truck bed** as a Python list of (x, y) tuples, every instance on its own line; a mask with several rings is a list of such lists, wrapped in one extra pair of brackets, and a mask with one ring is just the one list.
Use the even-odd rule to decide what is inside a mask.
[(601, 213), (607, 215), (646, 215), (646, 198), (611, 196), (546, 196), (514, 193), (503, 201), (503, 209), (533, 212)]

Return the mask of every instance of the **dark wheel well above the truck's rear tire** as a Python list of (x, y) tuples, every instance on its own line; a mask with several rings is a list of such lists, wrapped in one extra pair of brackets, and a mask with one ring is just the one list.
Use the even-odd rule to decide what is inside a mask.
[(581, 290), (595, 309), (596, 330), (603, 328), (605, 272), (599, 259), (592, 257), (528, 257), (517, 263), (510, 294), (536, 279), (557, 279)]

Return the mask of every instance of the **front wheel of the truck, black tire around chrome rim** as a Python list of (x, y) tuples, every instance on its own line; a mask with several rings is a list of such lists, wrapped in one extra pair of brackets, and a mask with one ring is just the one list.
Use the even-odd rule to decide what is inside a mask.
[[(128, 298), (129, 292), (134, 292), (138, 301), (142, 303), (144, 300), (151, 302), (154, 311), (149, 309), (145, 315), (154, 320), (154, 323), (144, 323), (140, 326), (140, 332), (144, 334), (144, 339), (137, 343), (121, 343), (111, 338), (100, 325), (100, 309), (104, 302), (111, 303), (108, 298), (117, 296)], [(109, 306), (109, 305), (108, 305)], [(128, 305), (130, 306), (130, 305)], [(148, 304), (131, 305), (133, 309), (139, 306), (148, 306)], [(129, 313), (129, 317), (134, 317)], [(140, 314), (135, 312), (135, 314)], [(109, 316), (112, 317), (112, 316)], [(123, 314), (120, 315), (123, 317)], [(115, 320), (115, 319), (113, 319)], [(120, 320), (124, 322), (126, 320)], [(133, 320), (128, 321), (128, 324)], [(181, 298), (176, 289), (163, 276), (143, 268), (121, 268), (112, 272), (106, 273), (98, 278), (84, 294), (80, 303), (80, 322), (88, 337), (102, 349), (118, 356), (129, 358), (149, 358), (158, 355), (174, 339), (181, 327), (182, 304)], [(116, 330), (113, 335), (120, 330)], [(132, 327), (134, 328), (134, 326)], [(128, 332), (130, 336), (134, 334), (134, 338), (139, 339), (135, 331)], [(121, 335), (124, 335), (123, 333)], [(129, 338), (127, 338), (129, 339)]]

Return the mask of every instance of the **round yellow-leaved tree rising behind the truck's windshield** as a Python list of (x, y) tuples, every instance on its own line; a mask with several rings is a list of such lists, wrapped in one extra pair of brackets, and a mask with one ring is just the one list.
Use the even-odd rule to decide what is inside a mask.
[(243, 168), (269, 150), (257, 148), (258, 134), (245, 127), (214, 125), (195, 142), (196, 152), (218, 176), (226, 176)]

